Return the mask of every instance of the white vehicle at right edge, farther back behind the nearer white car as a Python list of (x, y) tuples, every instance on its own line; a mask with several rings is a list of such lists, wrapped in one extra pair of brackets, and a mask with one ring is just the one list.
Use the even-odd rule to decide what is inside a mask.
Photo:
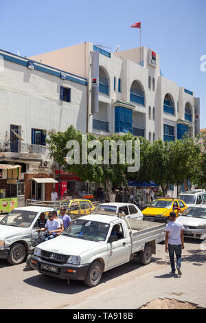
[(178, 199), (184, 201), (188, 206), (206, 202), (205, 190), (187, 190), (179, 194)]

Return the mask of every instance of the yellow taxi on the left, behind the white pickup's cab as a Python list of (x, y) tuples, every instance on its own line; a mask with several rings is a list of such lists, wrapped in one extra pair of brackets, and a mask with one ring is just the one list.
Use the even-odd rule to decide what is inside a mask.
[(72, 199), (61, 201), (61, 205), (65, 206), (70, 214), (87, 215), (95, 209), (95, 205), (89, 199)]

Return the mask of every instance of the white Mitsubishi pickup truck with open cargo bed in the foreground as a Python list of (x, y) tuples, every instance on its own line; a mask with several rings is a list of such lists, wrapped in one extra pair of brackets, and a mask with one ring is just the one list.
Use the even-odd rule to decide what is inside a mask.
[(108, 214), (90, 214), (73, 221), (60, 236), (34, 249), (33, 269), (60, 279), (84, 280), (95, 287), (102, 273), (139, 256), (150, 263), (165, 225)]

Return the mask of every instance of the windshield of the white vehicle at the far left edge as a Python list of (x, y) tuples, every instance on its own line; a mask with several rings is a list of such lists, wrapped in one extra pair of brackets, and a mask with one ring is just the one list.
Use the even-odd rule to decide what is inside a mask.
[(1, 225), (9, 225), (10, 227), (30, 227), (38, 212), (25, 210), (12, 210), (1, 221)]

